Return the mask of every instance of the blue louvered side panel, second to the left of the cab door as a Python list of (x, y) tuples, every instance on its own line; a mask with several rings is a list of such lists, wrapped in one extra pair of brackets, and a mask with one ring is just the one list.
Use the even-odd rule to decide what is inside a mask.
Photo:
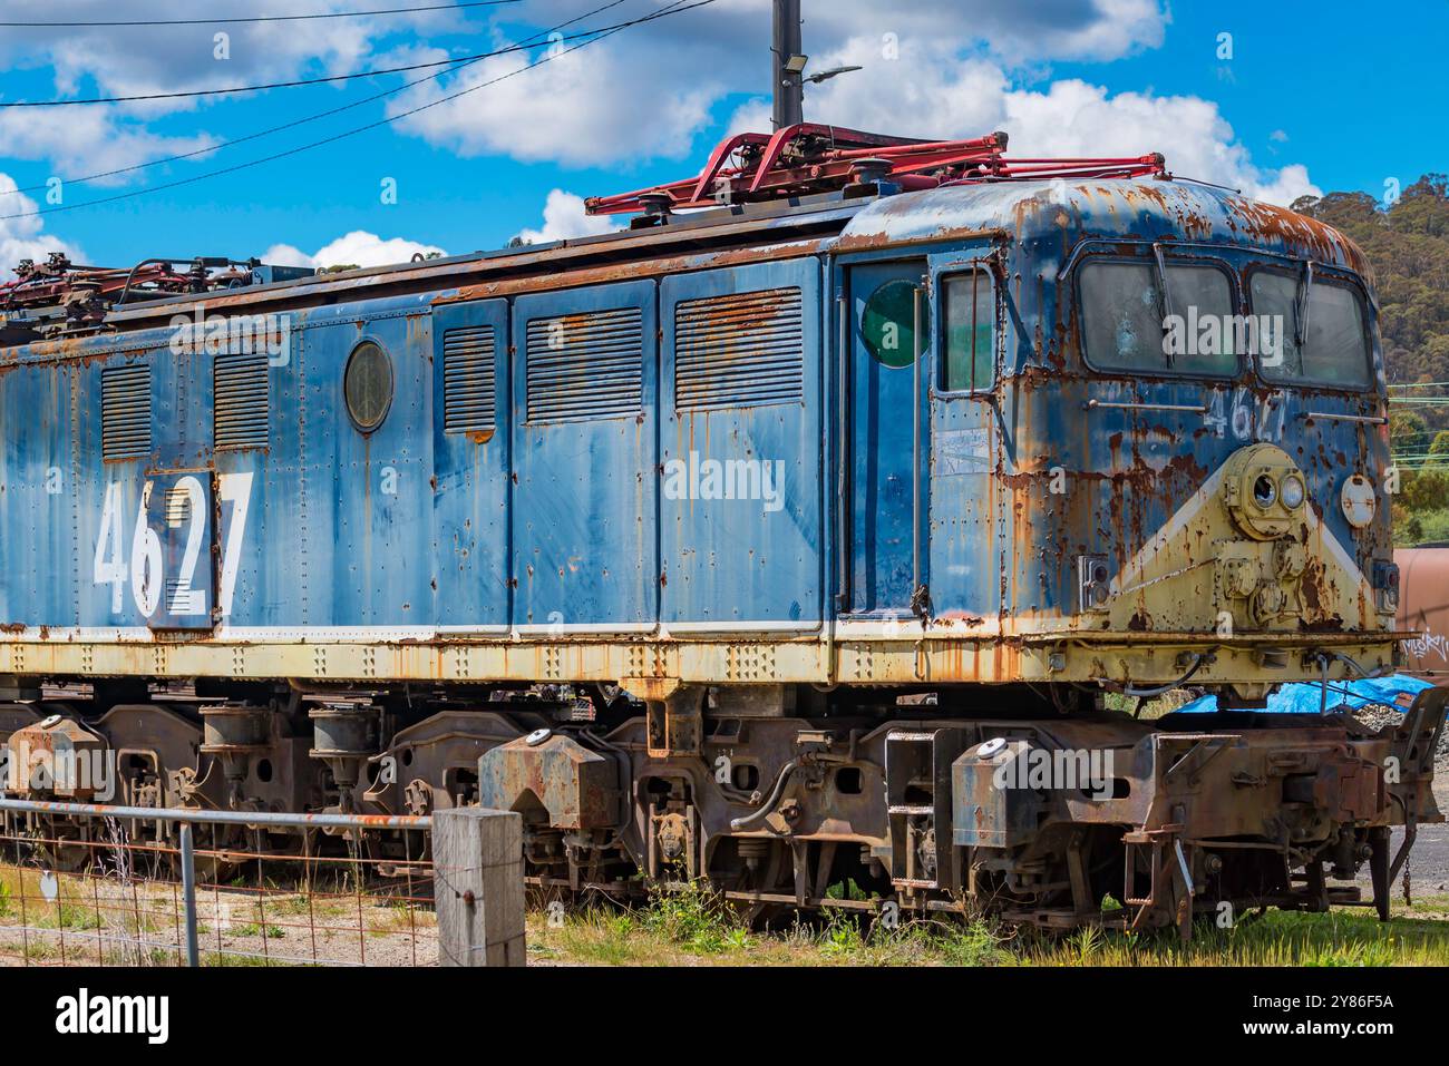
[(653, 281), (513, 306), (513, 626), (651, 630), (659, 613)]

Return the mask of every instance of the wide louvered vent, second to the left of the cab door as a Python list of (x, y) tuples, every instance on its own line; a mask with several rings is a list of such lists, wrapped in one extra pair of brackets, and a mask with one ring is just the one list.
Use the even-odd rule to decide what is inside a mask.
[(638, 307), (533, 319), (529, 421), (619, 419), (643, 407), (643, 314)]

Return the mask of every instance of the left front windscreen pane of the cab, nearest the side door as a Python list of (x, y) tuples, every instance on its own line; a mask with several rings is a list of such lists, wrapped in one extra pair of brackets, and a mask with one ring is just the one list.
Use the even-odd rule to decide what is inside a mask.
[(1237, 333), (1227, 274), (1217, 266), (1169, 265), (1168, 300), (1158, 277), (1152, 262), (1108, 259), (1082, 266), (1087, 362), (1103, 371), (1236, 374)]

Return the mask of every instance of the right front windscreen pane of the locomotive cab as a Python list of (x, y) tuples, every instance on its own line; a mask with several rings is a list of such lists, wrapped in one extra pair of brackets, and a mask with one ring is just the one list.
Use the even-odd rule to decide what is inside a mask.
[[(1268, 381), (1366, 388), (1371, 381), (1364, 297), (1333, 278), (1255, 271), (1248, 284), (1252, 311), (1271, 322), (1278, 343), (1258, 353)], [(1304, 298), (1304, 291), (1307, 297)], [(1307, 323), (1303, 319), (1307, 319)]]

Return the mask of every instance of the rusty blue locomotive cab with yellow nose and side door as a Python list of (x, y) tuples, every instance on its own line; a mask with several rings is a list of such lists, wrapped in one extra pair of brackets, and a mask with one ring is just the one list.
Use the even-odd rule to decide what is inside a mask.
[(1190, 675), (1249, 705), (1392, 668), (1382, 358), (1350, 242), (1164, 181), (943, 188), (851, 229), (910, 245), (940, 217), (962, 220), (946, 248), (838, 261), (842, 633), (916, 620), (1019, 640), (1033, 681)]

